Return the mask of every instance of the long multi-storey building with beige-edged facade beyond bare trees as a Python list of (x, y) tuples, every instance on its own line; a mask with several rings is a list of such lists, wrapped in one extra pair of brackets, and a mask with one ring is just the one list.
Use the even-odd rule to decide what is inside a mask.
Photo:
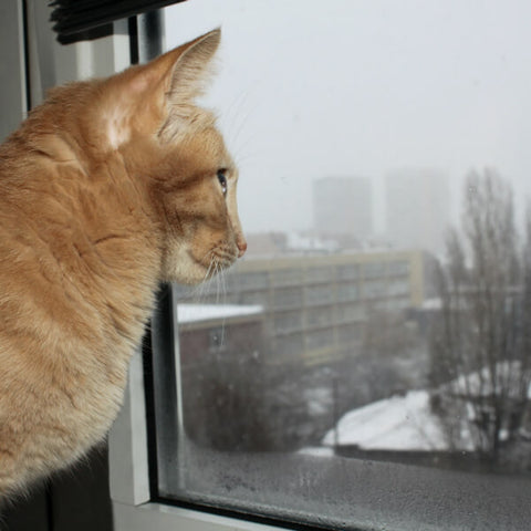
[[(206, 285), (200, 302), (261, 305), (268, 363), (326, 364), (360, 355), (371, 315), (419, 308), (431, 260), (421, 251), (246, 260)], [(179, 288), (179, 300), (194, 292)]]

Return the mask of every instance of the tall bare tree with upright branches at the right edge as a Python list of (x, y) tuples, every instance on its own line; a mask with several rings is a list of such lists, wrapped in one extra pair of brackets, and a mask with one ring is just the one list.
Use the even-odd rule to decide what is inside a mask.
[(493, 464), (529, 404), (530, 259), (531, 217), (522, 241), (510, 185), (491, 170), (469, 174), (462, 229), (449, 232), (438, 271), (431, 379), (449, 441)]

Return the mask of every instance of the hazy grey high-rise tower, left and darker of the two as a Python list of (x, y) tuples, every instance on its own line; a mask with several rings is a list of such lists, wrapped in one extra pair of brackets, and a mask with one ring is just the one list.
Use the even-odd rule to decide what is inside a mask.
[(360, 242), (373, 235), (371, 183), (361, 177), (324, 177), (313, 183), (314, 231), (322, 237), (351, 237)]

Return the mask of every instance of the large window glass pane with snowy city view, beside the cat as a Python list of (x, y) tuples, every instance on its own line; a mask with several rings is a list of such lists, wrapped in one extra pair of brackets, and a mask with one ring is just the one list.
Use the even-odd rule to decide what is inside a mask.
[(527, 529), (531, 7), (165, 17), (168, 48), (222, 27), (204, 102), (249, 248), (173, 288), (160, 497), (325, 529)]

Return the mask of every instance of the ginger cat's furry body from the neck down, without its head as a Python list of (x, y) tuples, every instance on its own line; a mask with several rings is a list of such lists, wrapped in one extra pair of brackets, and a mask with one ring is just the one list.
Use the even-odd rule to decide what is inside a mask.
[(153, 306), (142, 189), (91, 158), (76, 91), (0, 146), (0, 497), (101, 439)]

